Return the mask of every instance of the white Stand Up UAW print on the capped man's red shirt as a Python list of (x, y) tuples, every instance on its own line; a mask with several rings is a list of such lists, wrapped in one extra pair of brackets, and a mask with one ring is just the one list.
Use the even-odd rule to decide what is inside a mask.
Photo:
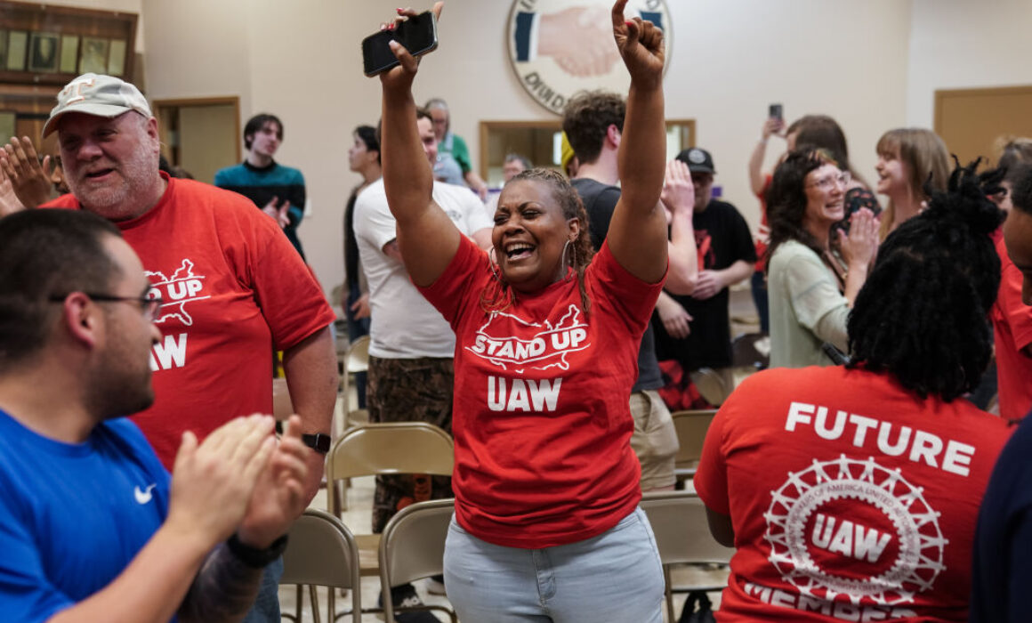
[[(155, 324), (165, 324), (166, 321), (179, 320), (184, 326), (193, 326), (194, 317), (190, 313), (193, 304), (211, 299), (204, 294), (204, 276), (194, 272), (194, 262), (184, 258), (183, 262), (171, 275), (161, 271), (147, 271), (151, 279), (152, 297), (161, 297), (161, 309), (154, 320)], [(182, 368), (187, 360), (186, 333), (170, 334), (162, 328), (163, 339), (151, 350), (151, 369), (168, 370)]]

